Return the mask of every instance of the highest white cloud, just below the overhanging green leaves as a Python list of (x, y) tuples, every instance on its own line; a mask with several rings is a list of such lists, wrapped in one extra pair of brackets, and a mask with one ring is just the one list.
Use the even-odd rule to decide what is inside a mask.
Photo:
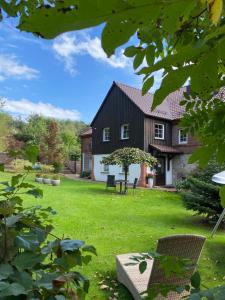
[(76, 60), (78, 55), (89, 55), (95, 60), (105, 63), (112, 68), (126, 68), (130, 66), (130, 60), (123, 55), (123, 50), (108, 58), (101, 47), (98, 37), (91, 38), (87, 33), (65, 33), (53, 43), (53, 50), (57, 57), (64, 62), (65, 69), (71, 74), (76, 73)]

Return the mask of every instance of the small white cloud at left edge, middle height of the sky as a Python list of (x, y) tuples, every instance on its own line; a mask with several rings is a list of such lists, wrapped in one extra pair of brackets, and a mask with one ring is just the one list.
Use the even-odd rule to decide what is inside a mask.
[(29, 80), (36, 78), (38, 74), (39, 71), (20, 63), (16, 56), (0, 54), (0, 81), (7, 78)]

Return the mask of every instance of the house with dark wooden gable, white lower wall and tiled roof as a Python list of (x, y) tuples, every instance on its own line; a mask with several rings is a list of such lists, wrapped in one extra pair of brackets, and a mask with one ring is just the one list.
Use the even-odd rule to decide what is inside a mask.
[[(171, 93), (151, 111), (152, 94), (142, 96), (139, 89), (113, 82), (91, 123), (92, 129), (81, 135), (83, 170), (88, 168), (95, 180), (105, 181), (108, 174), (123, 178), (123, 167), (100, 162), (116, 149), (137, 147), (158, 159), (155, 185), (175, 184), (195, 168), (188, 164), (188, 158), (198, 143), (179, 126), (184, 114), (179, 102), (188, 89), (182, 87)], [(88, 144), (92, 144), (92, 157), (86, 151)], [(131, 165), (128, 180), (133, 182), (137, 177), (139, 185), (145, 186), (149, 171), (146, 166)]]

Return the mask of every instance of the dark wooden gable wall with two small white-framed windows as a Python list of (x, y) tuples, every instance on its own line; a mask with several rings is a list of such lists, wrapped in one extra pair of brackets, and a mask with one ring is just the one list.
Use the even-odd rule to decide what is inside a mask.
[[(130, 124), (130, 139), (121, 140), (120, 128), (126, 123)], [(110, 142), (102, 140), (102, 130), (105, 127), (110, 127)], [(144, 114), (117, 86), (108, 94), (92, 123), (92, 130), (93, 154), (108, 154), (123, 147), (144, 149)]]

